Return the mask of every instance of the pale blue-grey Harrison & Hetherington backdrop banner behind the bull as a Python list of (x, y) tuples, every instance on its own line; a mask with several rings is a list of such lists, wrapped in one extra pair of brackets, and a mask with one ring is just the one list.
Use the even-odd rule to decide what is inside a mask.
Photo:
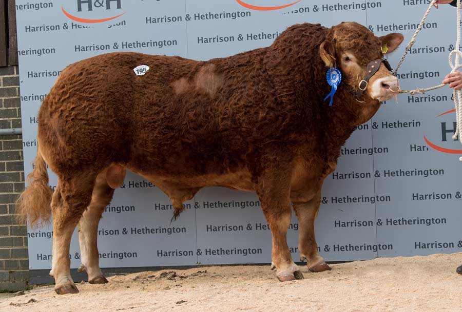
[[(36, 154), (36, 115), (70, 63), (114, 51), (206, 60), (266, 47), (287, 27), (356, 21), (400, 32), (396, 66), (430, 0), (16, 0), (25, 174)], [(430, 14), (399, 71), (403, 89), (438, 85), (450, 71), (456, 9)], [(462, 251), (462, 148), (452, 91), (388, 101), (342, 148), (323, 187), (316, 238), (327, 261)], [(56, 177), (50, 173), (50, 183)], [(271, 231), (255, 194), (208, 188), (170, 223), (168, 197), (127, 174), (99, 228), (101, 267), (271, 262)], [(31, 269), (51, 267), (52, 228), (29, 230)], [(288, 244), (298, 260), (298, 223)], [(78, 236), (71, 267), (80, 265)]]

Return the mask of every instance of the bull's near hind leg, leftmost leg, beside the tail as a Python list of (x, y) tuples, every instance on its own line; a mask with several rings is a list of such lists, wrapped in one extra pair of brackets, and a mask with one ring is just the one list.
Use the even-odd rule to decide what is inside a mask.
[(54, 290), (59, 295), (79, 292), (70, 275), (69, 245), (75, 226), (90, 203), (94, 178), (91, 173), (68, 180), (60, 178), (53, 193), (53, 260), (50, 275), (54, 277)]

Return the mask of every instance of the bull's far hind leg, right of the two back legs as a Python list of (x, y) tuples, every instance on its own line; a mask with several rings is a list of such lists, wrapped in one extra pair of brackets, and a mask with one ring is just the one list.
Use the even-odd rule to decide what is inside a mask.
[[(114, 170), (110, 169), (109, 172), (113, 171)], [(98, 254), (98, 225), (105, 207), (110, 203), (112, 195), (114, 194), (114, 189), (112, 189), (108, 184), (108, 182), (114, 182), (114, 176), (110, 176), (112, 179), (108, 179), (106, 176), (107, 172), (107, 170), (104, 170), (98, 175), (94, 183), (90, 205), (83, 213), (82, 218), (77, 225), (79, 230), (79, 243), (82, 259), (79, 272), (87, 271), (88, 282), (90, 284), (107, 283), (107, 279), (103, 276), (100, 269)], [(118, 180), (123, 182), (124, 177), (125, 171), (123, 170), (123, 173), (121, 172), (121, 177), (118, 178)], [(117, 187), (117, 185), (115, 186)]]

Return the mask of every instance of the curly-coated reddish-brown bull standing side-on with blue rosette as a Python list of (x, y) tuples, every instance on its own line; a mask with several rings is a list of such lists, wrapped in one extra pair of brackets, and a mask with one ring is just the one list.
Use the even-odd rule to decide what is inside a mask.
[[(175, 216), (205, 186), (256, 192), (281, 281), (303, 278), (286, 242), (292, 202), (301, 259), (313, 272), (330, 269), (314, 236), (321, 186), (345, 140), (394, 96), (397, 79), (381, 47), (392, 52), (402, 39), (356, 23), (301, 24), (270, 47), (209, 61), (111, 53), (68, 66), (38, 113), (36, 167), (17, 202), (32, 224), (50, 217), (51, 202), (56, 293), (78, 292), (68, 256), (76, 225), (90, 283), (107, 282), (98, 222), (125, 170), (165, 192)], [(136, 76), (139, 65), (150, 70)], [(325, 76), (333, 66), (343, 82), (330, 107)], [(58, 177), (54, 193), (46, 164)]]

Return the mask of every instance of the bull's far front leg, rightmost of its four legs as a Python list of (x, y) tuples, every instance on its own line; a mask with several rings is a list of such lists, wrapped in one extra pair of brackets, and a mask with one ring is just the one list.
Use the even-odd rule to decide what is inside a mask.
[(314, 221), (321, 203), (321, 193), (307, 202), (294, 202), (295, 214), (298, 218), (300, 260), (306, 259), (306, 264), (311, 272), (330, 270), (324, 259), (319, 255), (318, 244), (314, 232)]

